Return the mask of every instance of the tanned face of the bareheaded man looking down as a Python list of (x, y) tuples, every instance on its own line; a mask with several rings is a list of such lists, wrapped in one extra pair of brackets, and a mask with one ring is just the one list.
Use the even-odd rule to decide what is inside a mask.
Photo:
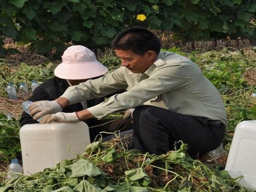
[(121, 58), (122, 66), (133, 73), (144, 73), (155, 61), (151, 52), (146, 52), (143, 56), (134, 54), (131, 50), (116, 49), (116, 56)]

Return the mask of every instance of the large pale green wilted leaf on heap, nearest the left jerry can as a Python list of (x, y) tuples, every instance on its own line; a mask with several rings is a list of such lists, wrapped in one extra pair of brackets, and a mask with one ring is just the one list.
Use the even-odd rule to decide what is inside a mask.
[(85, 175), (95, 177), (97, 175), (105, 174), (98, 167), (85, 159), (80, 159), (77, 162), (66, 166), (66, 168), (72, 171), (70, 177), (81, 177)]

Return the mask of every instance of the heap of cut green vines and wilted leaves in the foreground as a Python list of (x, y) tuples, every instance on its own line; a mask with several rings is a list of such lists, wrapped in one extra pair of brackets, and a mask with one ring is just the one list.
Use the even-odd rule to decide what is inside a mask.
[(94, 142), (84, 154), (63, 160), (56, 168), (6, 180), (0, 192), (253, 191), (237, 184), (226, 171), (190, 158), (186, 144), (178, 143), (180, 149), (156, 156), (127, 150), (125, 140)]

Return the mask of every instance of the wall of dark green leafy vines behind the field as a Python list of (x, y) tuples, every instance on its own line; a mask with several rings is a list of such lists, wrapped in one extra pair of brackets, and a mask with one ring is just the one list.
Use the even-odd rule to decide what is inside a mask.
[[(147, 19), (136, 20), (138, 14)], [(0, 38), (32, 42), (41, 53), (53, 47), (62, 52), (70, 41), (108, 46), (134, 25), (172, 30), (184, 39), (250, 38), (255, 16), (255, 0), (0, 0)], [(0, 54), (6, 54), (2, 46)]]

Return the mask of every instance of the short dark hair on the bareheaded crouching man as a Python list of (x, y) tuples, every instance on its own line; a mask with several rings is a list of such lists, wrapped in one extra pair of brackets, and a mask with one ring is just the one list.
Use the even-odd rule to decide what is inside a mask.
[(134, 54), (142, 56), (149, 50), (158, 54), (161, 44), (158, 37), (151, 31), (134, 26), (120, 32), (112, 41), (112, 48), (131, 50)]

